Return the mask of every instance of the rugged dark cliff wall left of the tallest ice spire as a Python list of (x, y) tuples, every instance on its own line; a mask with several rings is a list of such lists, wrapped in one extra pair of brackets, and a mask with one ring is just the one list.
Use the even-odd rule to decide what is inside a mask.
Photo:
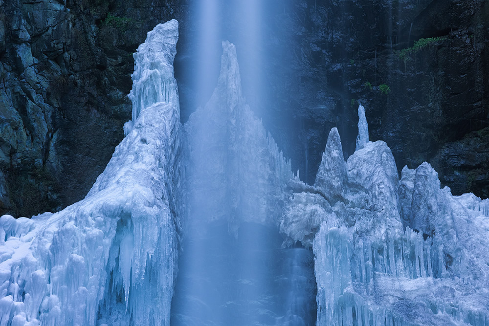
[(131, 119), (132, 54), (177, 2), (0, 1), (1, 214), (87, 194)]

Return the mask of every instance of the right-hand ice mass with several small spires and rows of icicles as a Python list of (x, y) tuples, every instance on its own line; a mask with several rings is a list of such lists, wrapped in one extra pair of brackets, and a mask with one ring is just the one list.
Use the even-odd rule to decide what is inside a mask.
[(316, 183), (294, 181), (281, 220), (289, 241), (312, 242), (316, 325), (488, 325), (488, 199), (440, 189), (428, 163), (399, 180), (364, 112), (346, 175), (333, 129)]

